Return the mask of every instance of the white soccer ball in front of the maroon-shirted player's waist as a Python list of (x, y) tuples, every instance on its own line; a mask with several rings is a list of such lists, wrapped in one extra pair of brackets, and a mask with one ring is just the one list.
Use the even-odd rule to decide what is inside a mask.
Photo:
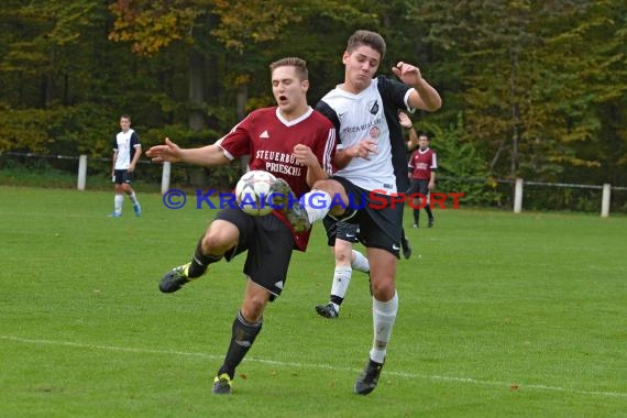
[(263, 217), (272, 212), (267, 198), (272, 195), (272, 185), (276, 177), (268, 172), (253, 169), (244, 174), (235, 186), (235, 199), (240, 209), (253, 217)]

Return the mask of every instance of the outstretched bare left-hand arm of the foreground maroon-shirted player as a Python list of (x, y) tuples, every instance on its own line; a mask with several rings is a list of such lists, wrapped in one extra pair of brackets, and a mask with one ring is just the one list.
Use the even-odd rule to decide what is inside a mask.
[(165, 161), (170, 163), (188, 163), (202, 166), (224, 165), (230, 160), (224, 155), (222, 148), (216, 144), (202, 146), (199, 148), (182, 148), (169, 138), (165, 139), (164, 145), (152, 146), (146, 155), (152, 158), (154, 163), (163, 163)]

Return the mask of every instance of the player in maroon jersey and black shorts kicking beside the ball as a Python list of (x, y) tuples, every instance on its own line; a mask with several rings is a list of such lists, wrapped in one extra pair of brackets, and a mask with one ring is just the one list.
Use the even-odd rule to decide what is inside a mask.
[[(154, 162), (186, 162), (204, 166), (228, 164), (250, 155), (250, 169), (263, 169), (283, 179), (296, 197), (310, 189), (314, 182), (327, 178), (336, 150), (336, 130), (331, 122), (307, 102), (309, 88), (306, 63), (300, 58), (279, 59), (270, 66), (276, 107), (253, 111), (216, 144), (180, 148), (165, 140), (146, 153)], [(239, 208), (220, 210), (194, 257), (162, 278), (163, 293), (178, 290), (207, 272), (209, 264), (222, 257), (230, 261), (248, 251), (244, 298), (233, 326), (232, 337), (213, 382), (215, 394), (230, 394), (235, 367), (244, 359), (262, 329), (268, 301), (277, 298), (287, 279), (292, 251), (305, 251), (310, 228), (296, 229), (283, 210), (253, 217)]]

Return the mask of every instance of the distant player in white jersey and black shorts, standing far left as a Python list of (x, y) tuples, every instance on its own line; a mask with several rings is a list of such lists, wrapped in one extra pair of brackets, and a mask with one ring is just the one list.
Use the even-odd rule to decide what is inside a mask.
[(131, 183), (138, 161), (140, 161), (140, 155), (142, 155), (142, 144), (135, 130), (131, 129), (131, 117), (122, 114), (120, 117), (120, 128), (122, 130), (113, 136), (111, 142), (113, 148), (111, 176), (116, 184), (116, 197), (113, 198), (113, 212), (109, 216), (112, 218), (122, 216), (125, 194), (133, 204), (135, 216), (139, 217), (142, 215), (142, 208), (135, 190), (131, 187)]

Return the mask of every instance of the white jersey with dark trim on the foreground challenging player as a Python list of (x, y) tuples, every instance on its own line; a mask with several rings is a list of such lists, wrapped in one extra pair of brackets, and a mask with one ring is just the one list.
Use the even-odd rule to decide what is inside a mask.
[[(321, 99), (321, 102), (327, 103), (338, 116), (340, 122), (338, 150), (369, 139), (377, 143), (377, 152), (371, 154), (370, 160), (352, 158), (336, 174), (363, 189), (378, 189), (391, 194), (397, 191), (396, 177), (392, 161), (389, 127), (377, 84), (378, 79), (373, 79), (370, 87), (358, 95), (336, 87)], [(410, 90), (407, 87), (404, 97), (399, 98), (407, 108)]]

